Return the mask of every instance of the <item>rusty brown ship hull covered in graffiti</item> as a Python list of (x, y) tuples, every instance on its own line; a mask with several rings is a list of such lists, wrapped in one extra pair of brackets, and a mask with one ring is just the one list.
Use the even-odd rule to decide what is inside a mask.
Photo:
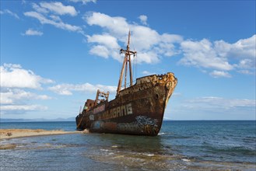
[[(149, 75), (121, 90), (115, 99), (85, 108), (75, 118), (78, 130), (96, 133), (157, 135), (164, 110), (177, 85), (173, 73)], [(87, 99), (88, 101), (88, 99)]]

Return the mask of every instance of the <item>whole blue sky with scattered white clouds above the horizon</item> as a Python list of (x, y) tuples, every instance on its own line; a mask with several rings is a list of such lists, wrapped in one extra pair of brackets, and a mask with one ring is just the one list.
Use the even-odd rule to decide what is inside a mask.
[(1, 118), (68, 118), (134, 75), (174, 72), (170, 120), (255, 120), (255, 1), (1, 1)]

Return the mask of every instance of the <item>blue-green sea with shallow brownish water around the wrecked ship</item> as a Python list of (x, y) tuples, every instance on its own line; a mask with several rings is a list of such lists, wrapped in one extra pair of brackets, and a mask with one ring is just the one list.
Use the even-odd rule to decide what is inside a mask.
[[(1, 129), (75, 131), (75, 122)], [(164, 120), (157, 136), (61, 134), (0, 141), (0, 170), (256, 170), (255, 120)]]

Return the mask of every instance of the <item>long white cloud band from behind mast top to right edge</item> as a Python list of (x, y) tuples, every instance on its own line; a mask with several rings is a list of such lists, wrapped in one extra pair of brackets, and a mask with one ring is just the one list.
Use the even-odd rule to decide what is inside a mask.
[[(140, 16), (142, 21), (147, 17)], [(109, 58), (111, 51), (116, 51), (117, 44), (127, 44), (128, 30), (131, 30), (130, 49), (137, 51), (137, 63), (154, 64), (160, 62), (163, 57), (173, 57), (181, 54), (178, 62), (181, 65), (200, 68), (215, 78), (230, 78), (230, 71), (244, 74), (254, 73), (255, 69), (255, 39), (256, 35), (247, 39), (237, 40), (230, 44), (224, 40), (210, 41), (184, 40), (181, 35), (163, 33), (160, 34), (149, 26), (140, 26), (137, 23), (128, 23), (127, 19), (121, 16), (108, 16), (100, 12), (88, 12), (83, 16), (89, 26), (100, 26), (101, 34), (87, 36), (87, 42), (93, 44), (90, 53), (103, 58)], [(115, 37), (107, 39), (108, 37)], [(104, 40), (106, 38), (106, 40)], [(113, 45), (110, 48), (110, 43)], [(135, 50), (134, 50), (135, 49)], [(112, 58), (119, 60), (116, 54)]]

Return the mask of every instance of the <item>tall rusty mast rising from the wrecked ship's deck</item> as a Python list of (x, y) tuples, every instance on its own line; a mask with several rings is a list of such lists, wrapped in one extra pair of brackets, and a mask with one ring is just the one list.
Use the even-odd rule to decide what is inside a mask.
[[(126, 47), (126, 50), (121, 49), (120, 50), (120, 54), (124, 54), (124, 62), (123, 62), (123, 66), (121, 68), (121, 73), (120, 73), (120, 78), (119, 78), (119, 82), (118, 82), (118, 86), (117, 86), (117, 96), (119, 95), (119, 92), (121, 91), (121, 83), (123, 81), (124, 78), (124, 89), (126, 89), (126, 76), (127, 76), (127, 70), (129, 68), (129, 72), (130, 72), (130, 86), (132, 86), (132, 61), (131, 61), (131, 55), (133, 54), (135, 56), (135, 54), (137, 53), (136, 51), (130, 51), (130, 37), (131, 37), (131, 32), (129, 31), (128, 34), (128, 44)], [(125, 75), (124, 75), (124, 68), (125, 68)]]

